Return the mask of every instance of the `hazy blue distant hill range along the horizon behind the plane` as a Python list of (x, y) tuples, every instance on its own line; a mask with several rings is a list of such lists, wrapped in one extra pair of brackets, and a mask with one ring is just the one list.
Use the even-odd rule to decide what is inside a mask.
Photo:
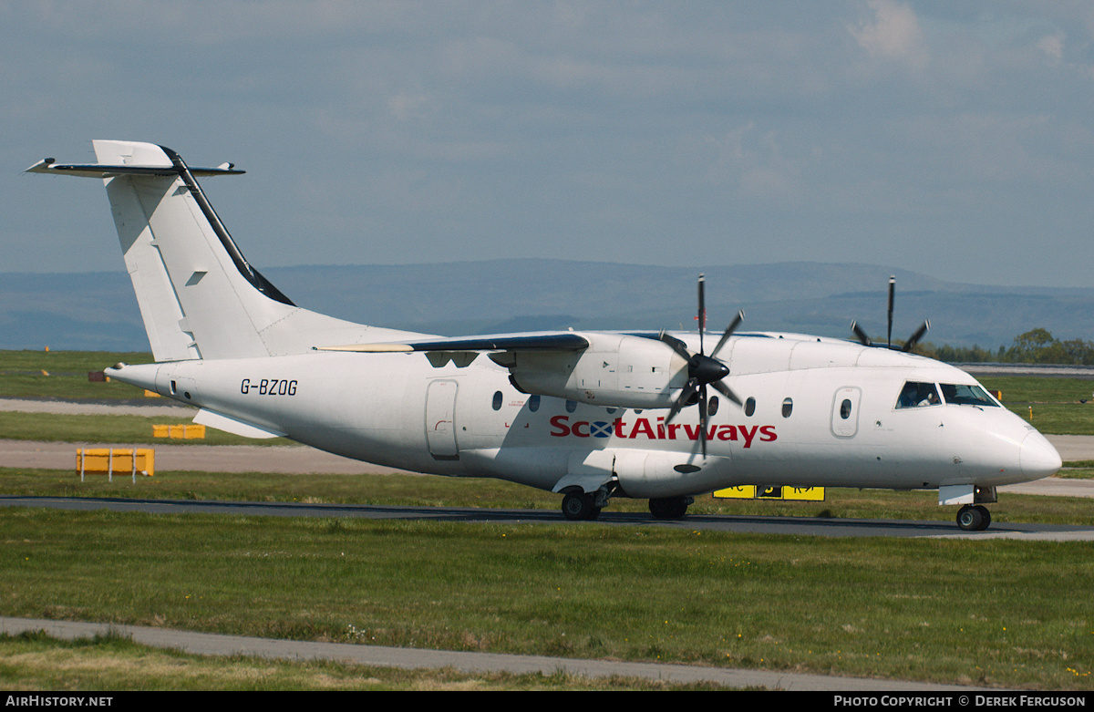
[[(742, 329), (851, 338), (858, 319), (894, 339), (924, 319), (924, 341), (996, 349), (1035, 327), (1094, 339), (1094, 289), (944, 282), (874, 265), (779, 262), (705, 268), (503, 259), (439, 265), (265, 268), (298, 305), (428, 334), (538, 329), (694, 329), (696, 277), (707, 276), (711, 330), (737, 310)], [(0, 273), (0, 348), (142, 350), (148, 340), (125, 272)]]

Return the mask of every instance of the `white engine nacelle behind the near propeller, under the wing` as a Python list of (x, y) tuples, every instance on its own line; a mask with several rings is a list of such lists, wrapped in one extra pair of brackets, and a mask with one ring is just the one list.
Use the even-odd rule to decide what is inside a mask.
[(595, 331), (581, 336), (590, 343), (582, 351), (509, 352), (494, 361), (525, 393), (597, 406), (671, 408), (674, 392), (687, 383), (687, 361), (661, 341)]

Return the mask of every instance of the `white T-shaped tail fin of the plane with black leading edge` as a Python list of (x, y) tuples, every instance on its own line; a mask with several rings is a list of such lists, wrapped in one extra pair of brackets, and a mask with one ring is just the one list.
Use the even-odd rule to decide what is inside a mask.
[(298, 307), (247, 262), (196, 180), (243, 171), (191, 168), (152, 143), (93, 145), (96, 164), (46, 159), (27, 171), (103, 178), (156, 361), (282, 355), (388, 338), (385, 329)]

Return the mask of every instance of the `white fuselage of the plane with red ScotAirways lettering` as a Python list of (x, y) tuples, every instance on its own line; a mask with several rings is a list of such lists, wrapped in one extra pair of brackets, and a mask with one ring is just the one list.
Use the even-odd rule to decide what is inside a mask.
[(124, 366), (112, 375), (348, 457), (545, 490), (568, 475), (597, 474), (617, 477), (636, 498), (737, 485), (934, 489), (1027, 481), (1060, 466), (1048, 441), (998, 402), (898, 407), (908, 382), (976, 384), (930, 359), (743, 335), (722, 360), (745, 406), (721, 399), (706, 458), (697, 406), (666, 425), (665, 409), (529, 396), (486, 358), (434, 367), (421, 353), (312, 352)]

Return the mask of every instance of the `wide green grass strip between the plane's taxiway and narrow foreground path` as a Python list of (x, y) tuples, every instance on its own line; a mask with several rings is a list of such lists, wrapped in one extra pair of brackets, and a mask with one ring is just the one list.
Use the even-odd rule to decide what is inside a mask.
[(7, 510), (0, 611), (1091, 689), (1085, 542)]

